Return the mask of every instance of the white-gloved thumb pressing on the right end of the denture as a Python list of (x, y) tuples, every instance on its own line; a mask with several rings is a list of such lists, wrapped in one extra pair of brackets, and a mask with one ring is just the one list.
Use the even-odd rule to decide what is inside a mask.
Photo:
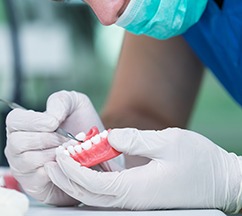
[(179, 142), (177, 129), (161, 131), (134, 128), (111, 130), (108, 141), (117, 151), (148, 158), (162, 156), (172, 143)]

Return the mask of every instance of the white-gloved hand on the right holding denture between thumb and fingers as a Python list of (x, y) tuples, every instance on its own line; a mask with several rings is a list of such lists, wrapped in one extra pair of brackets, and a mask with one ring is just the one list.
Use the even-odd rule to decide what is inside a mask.
[(118, 151), (152, 159), (121, 172), (97, 172), (57, 155), (46, 164), (52, 181), (84, 204), (137, 210), (241, 208), (241, 161), (195, 132), (113, 129), (108, 136)]

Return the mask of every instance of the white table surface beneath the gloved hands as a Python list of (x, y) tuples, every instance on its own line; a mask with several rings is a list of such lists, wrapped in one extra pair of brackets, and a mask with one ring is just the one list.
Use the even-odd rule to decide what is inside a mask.
[(31, 205), (26, 216), (225, 216), (218, 210), (127, 211), (94, 207), (51, 207)]

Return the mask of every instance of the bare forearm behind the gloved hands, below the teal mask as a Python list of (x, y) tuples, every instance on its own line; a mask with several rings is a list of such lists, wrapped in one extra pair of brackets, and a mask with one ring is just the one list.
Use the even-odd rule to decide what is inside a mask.
[[(159, 41), (127, 33), (103, 110), (105, 127), (186, 127), (202, 72), (182, 37)], [(127, 167), (143, 164), (130, 157), (126, 161)]]

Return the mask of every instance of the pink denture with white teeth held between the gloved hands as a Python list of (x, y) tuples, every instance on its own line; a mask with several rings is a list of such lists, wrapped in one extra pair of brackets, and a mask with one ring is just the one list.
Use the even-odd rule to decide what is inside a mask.
[(56, 151), (62, 151), (66, 155), (71, 156), (82, 166), (95, 166), (121, 154), (108, 143), (107, 137), (110, 131), (104, 130), (99, 133), (97, 127), (92, 127), (87, 134), (80, 132), (76, 135), (76, 138), (83, 140), (83, 142), (69, 140), (62, 146), (59, 146)]

